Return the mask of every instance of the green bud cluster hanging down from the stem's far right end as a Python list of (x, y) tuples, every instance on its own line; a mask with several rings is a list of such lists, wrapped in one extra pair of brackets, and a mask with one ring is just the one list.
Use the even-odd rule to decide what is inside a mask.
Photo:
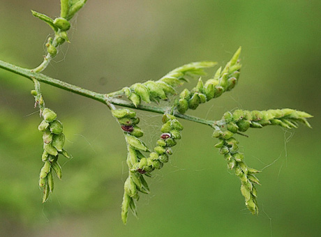
[[(216, 127), (216, 130), (219, 130), (219, 128)], [(223, 132), (223, 134), (219, 136), (219, 141), (215, 146), (220, 148), (220, 153), (223, 154), (225, 160), (227, 160), (228, 169), (234, 170), (235, 175), (239, 177), (241, 181), (241, 194), (245, 198), (246, 207), (251, 213), (258, 213), (256, 201), (257, 190), (254, 185), (255, 183), (260, 185), (260, 181), (254, 174), (260, 171), (246, 165), (244, 162), (244, 154), (239, 152), (239, 142), (234, 139), (234, 137), (225, 135)]]

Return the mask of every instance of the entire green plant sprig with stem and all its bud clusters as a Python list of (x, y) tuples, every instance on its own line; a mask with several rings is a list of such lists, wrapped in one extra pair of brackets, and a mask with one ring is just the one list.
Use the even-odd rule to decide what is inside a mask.
[[(168, 162), (172, 155), (172, 146), (175, 146), (181, 139), (183, 125), (179, 119), (209, 125), (213, 129), (213, 137), (218, 139), (215, 147), (219, 148), (219, 153), (227, 161), (228, 169), (233, 170), (241, 181), (241, 194), (244, 196), (246, 207), (251, 213), (258, 213), (255, 185), (260, 185), (260, 181), (255, 175), (260, 171), (248, 167), (244, 162), (244, 154), (239, 152), (237, 136), (244, 135), (249, 128), (263, 128), (267, 125), (292, 129), (297, 128), (299, 123), (304, 123), (311, 128), (307, 119), (312, 116), (295, 109), (264, 111), (238, 109), (234, 112), (225, 112), (219, 121), (210, 121), (185, 114), (188, 109), (197, 109), (200, 104), (218, 98), (237, 85), (241, 71), (241, 60), (239, 59), (241, 47), (237, 49), (232, 59), (223, 68), (218, 68), (214, 77), (206, 82), (203, 82), (200, 76), (205, 74), (204, 68), (216, 66), (213, 61), (188, 63), (168, 72), (156, 81), (136, 83), (112, 93), (96, 93), (43, 75), (40, 72), (45, 70), (57, 55), (60, 45), (65, 42), (70, 43), (67, 33), (70, 29), (70, 20), (85, 3), (86, 0), (61, 0), (60, 17), (55, 19), (31, 11), (33, 16), (43, 20), (54, 31), (54, 38), (47, 40), (47, 55), (38, 67), (20, 68), (0, 61), (0, 68), (27, 77), (34, 84), (31, 95), (34, 96), (35, 107), (40, 109), (40, 116), (43, 118), (38, 125), (38, 130), (43, 132), (43, 154), (39, 155), (44, 162), (39, 175), (39, 185), (43, 188), (43, 202), (54, 189), (54, 174), (59, 179), (61, 178), (59, 155), (64, 155), (66, 158), (70, 158), (70, 155), (63, 148), (65, 141), (63, 125), (57, 120), (57, 114), (45, 107), (40, 82), (103, 102), (119, 123), (126, 140), (128, 165), (128, 178), (124, 183), (124, 197), (121, 204), (121, 219), (124, 224), (127, 222), (129, 210), (137, 215), (136, 203), (140, 194), (150, 192), (147, 178), (152, 176), (155, 169), (161, 169)], [(177, 89), (182, 88), (193, 77), (198, 78), (196, 86), (191, 90), (181, 89), (179, 93)], [(160, 100), (165, 101), (165, 107), (160, 106)], [(116, 106), (120, 108), (117, 109)], [(154, 148), (148, 148), (142, 141), (144, 132), (138, 127), (140, 119), (133, 109), (163, 114), (163, 125)]]

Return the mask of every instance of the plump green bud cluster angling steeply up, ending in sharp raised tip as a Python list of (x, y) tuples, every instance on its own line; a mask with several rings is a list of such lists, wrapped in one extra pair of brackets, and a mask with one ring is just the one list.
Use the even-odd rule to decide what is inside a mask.
[(207, 80), (205, 84), (199, 79), (197, 86), (191, 91), (184, 89), (179, 95), (177, 110), (184, 114), (188, 109), (196, 109), (201, 103), (207, 102), (212, 98), (217, 98), (225, 91), (230, 91), (237, 84), (241, 64), (239, 54), (241, 47), (237, 49), (232, 59), (226, 64), (225, 68), (218, 68), (214, 78)]

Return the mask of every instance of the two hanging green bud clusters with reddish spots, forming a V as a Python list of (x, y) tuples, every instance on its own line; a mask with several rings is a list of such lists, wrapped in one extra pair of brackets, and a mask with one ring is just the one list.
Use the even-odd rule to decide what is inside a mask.
[(135, 117), (136, 113), (131, 109), (114, 109), (112, 110), (112, 115), (121, 125), (127, 143), (128, 153), (126, 163), (129, 174), (124, 183), (124, 197), (121, 204), (121, 219), (124, 224), (126, 224), (129, 209), (134, 215), (137, 215), (135, 199), (138, 200), (140, 197), (138, 192), (144, 194), (149, 193), (149, 187), (144, 179), (144, 175), (151, 176), (151, 171), (161, 169), (163, 163), (168, 162), (168, 156), (172, 154), (171, 147), (177, 143), (172, 132), (176, 132), (175, 137), (180, 138), (180, 131), (183, 130), (183, 126), (175, 116), (164, 114), (162, 119), (163, 127), (161, 128), (163, 134), (160, 136), (160, 139), (158, 139), (154, 152), (149, 153), (149, 156), (146, 158), (140, 152), (149, 151), (144, 142), (138, 138), (142, 137), (142, 130), (136, 125), (127, 125), (130, 123), (124, 125), (123, 123), (126, 119), (139, 121), (139, 119)]

